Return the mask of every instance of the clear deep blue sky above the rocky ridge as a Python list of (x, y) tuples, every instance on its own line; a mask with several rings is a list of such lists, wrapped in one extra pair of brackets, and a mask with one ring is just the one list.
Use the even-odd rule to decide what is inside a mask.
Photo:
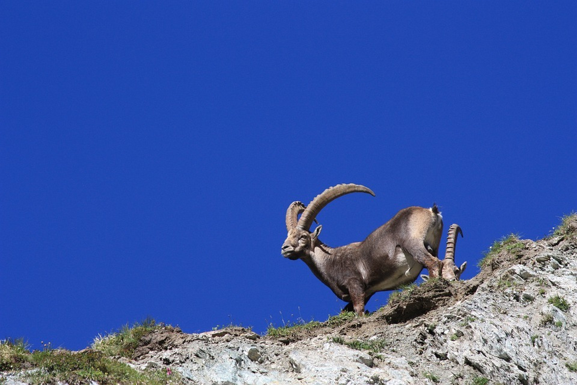
[(284, 214), (345, 182), (377, 196), (328, 205), (324, 242), (436, 202), (470, 278), (497, 238), (577, 209), (576, 20), (575, 1), (2, 2), (0, 338), (325, 320), (344, 302), (280, 255)]

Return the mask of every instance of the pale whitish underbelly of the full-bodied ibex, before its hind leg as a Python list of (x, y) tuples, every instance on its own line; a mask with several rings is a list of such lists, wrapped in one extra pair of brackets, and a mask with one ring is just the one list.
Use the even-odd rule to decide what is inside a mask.
[(392, 260), (394, 261), (394, 267), (391, 273), (387, 274), (383, 281), (370, 286), (366, 290), (365, 295), (373, 294), (376, 291), (396, 289), (400, 285), (414, 282), (421, 270), (423, 270), (423, 266), (415, 261), (408, 252), (404, 252), (400, 246), (395, 248), (395, 255)]

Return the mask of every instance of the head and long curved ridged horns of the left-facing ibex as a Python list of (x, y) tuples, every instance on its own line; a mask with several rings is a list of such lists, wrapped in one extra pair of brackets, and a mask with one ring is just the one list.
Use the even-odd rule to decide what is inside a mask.
[[(308, 206), (299, 201), (291, 203), (286, 214), (288, 235), (282, 246), (282, 255), (291, 260), (311, 256), (314, 253), (315, 246), (321, 244), (319, 234), (323, 228), (323, 226), (318, 226), (312, 233), (309, 231), (310, 225), (315, 220), (314, 218), (325, 205), (340, 196), (352, 192), (366, 192), (374, 196), (372, 190), (365, 186), (342, 184), (324, 190)], [(302, 215), (299, 219), (298, 215), (301, 213)]]

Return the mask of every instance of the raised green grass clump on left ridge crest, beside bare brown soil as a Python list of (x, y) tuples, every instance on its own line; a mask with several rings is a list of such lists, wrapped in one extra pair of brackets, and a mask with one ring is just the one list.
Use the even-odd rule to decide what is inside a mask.
[(111, 333), (102, 337), (99, 335), (92, 342), (92, 349), (99, 350), (106, 356), (132, 357), (134, 350), (140, 345), (140, 340), (155, 330), (162, 329), (163, 324), (156, 324), (155, 320), (148, 317), (143, 322), (135, 323), (132, 328), (126, 324), (117, 333)]

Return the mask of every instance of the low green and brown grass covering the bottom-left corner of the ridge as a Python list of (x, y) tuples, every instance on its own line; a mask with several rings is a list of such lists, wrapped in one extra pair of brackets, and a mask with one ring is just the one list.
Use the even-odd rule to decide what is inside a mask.
[[(85, 384), (92, 381), (100, 385), (161, 385), (181, 384), (182, 377), (173, 373), (169, 368), (147, 369), (139, 372), (129, 365), (118, 362), (110, 357), (110, 352), (126, 353), (134, 349), (134, 342), (138, 335), (160, 328), (152, 319), (147, 319), (143, 324), (138, 324), (133, 329), (123, 328), (119, 334), (104, 337), (95, 341), (94, 345), (103, 347), (102, 350), (85, 349), (80, 352), (70, 352), (65, 349), (52, 349), (50, 343), (43, 343), (42, 351), (30, 352), (28, 345), (23, 340), (6, 339), (0, 341), (0, 371), (25, 371), (21, 380), (33, 385), (54, 384), (58, 382), (70, 385)], [(131, 336), (132, 340), (120, 339), (117, 335)], [(111, 341), (117, 343), (113, 349)], [(121, 354), (114, 354), (121, 355)]]

